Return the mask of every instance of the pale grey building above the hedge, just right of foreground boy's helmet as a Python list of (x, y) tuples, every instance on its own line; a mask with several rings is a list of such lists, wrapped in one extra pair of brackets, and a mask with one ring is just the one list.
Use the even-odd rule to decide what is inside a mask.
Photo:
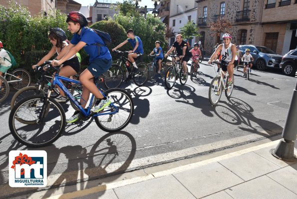
[[(105, 0), (106, 1), (106, 0)], [(114, 14), (118, 13), (117, 10), (115, 10), (116, 1), (109, 1), (107, 2), (100, 2), (96, 0), (94, 5), (92, 6), (92, 22), (97, 22), (100, 20), (104, 20), (105, 17), (112, 17)]]

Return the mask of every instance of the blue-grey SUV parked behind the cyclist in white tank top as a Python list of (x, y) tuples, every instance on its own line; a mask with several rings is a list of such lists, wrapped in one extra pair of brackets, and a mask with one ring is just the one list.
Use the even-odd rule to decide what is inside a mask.
[(277, 54), (272, 49), (265, 46), (258, 45), (240, 45), (240, 51), (242, 55), (249, 48), (251, 55), (254, 57), (253, 66), (256, 66), (259, 70), (265, 70), (266, 67), (280, 67), (282, 61), (282, 55)]

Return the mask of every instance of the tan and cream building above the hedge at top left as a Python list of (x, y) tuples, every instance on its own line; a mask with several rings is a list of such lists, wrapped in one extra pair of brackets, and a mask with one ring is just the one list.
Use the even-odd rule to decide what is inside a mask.
[[(43, 12), (44, 15), (54, 14), (56, 8), (56, 0), (15, 0), (18, 4), (28, 7), (31, 15)], [(8, 0), (0, 0), (0, 4), (4, 7), (9, 6)]]

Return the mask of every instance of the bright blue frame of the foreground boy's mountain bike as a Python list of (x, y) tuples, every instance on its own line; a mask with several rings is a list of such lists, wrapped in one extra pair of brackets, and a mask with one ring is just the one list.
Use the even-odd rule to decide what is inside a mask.
[[(94, 100), (94, 94), (92, 94), (91, 96), (91, 100), (90, 100), (90, 103), (87, 107), (87, 110), (85, 110), (81, 105), (80, 103), (73, 97), (73, 95), (69, 92), (69, 90), (65, 87), (65, 85), (60, 81), (67, 81), (67, 82), (71, 82), (71, 83), (76, 83), (76, 84), (80, 84), (81, 85), (81, 82), (78, 81), (78, 80), (75, 80), (75, 79), (70, 79), (68, 77), (65, 77), (65, 76), (59, 76), (57, 73), (54, 75), (54, 78), (53, 78), (53, 82), (52, 82), (52, 85), (51, 85), (51, 89), (49, 89), (48, 93), (47, 93), (47, 97), (50, 97), (50, 93), (51, 91), (53, 90), (53, 88), (55, 87), (55, 85), (59, 86), (63, 91), (64, 93), (68, 96), (68, 98), (75, 104), (75, 106), (80, 110), (80, 112), (84, 115), (84, 116), (89, 116), (91, 114), (91, 105), (93, 103), (93, 100)], [(101, 94), (106, 97), (106, 95), (99, 89), (99, 91), (101, 92)], [(119, 111), (118, 107), (115, 106), (112, 102), (110, 103), (110, 106), (114, 107), (115, 108), (115, 111), (112, 111), (111, 112), (111, 109), (108, 109), (108, 110), (104, 110), (104, 111), (101, 111), (100, 113), (95, 113), (95, 114), (92, 114), (91, 116), (99, 116), (99, 115), (105, 115), (105, 114), (115, 114)], [(108, 112), (110, 111), (110, 112)]]

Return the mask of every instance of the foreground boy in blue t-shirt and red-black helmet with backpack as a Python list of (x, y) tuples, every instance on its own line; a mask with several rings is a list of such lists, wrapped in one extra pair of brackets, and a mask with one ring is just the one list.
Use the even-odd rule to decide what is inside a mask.
[[(53, 60), (52, 65), (61, 65), (83, 48), (90, 56), (90, 63), (79, 75), (79, 80), (83, 85), (80, 103), (84, 108), (91, 92), (97, 98), (96, 105), (92, 111), (99, 112), (110, 104), (110, 100), (108, 97), (103, 97), (94, 83), (94, 78), (97, 78), (111, 67), (111, 54), (107, 46), (104, 45), (102, 38), (94, 32), (93, 29), (86, 27), (88, 21), (82, 13), (78, 11), (69, 12), (66, 22), (68, 24), (68, 30), (73, 34), (73, 37), (70, 43), (65, 47), (67, 49), (64, 50), (64, 54), (61, 55), (63, 58)], [(78, 119), (79, 111), (75, 111), (70, 118), (66, 119), (66, 122), (73, 123)]]

